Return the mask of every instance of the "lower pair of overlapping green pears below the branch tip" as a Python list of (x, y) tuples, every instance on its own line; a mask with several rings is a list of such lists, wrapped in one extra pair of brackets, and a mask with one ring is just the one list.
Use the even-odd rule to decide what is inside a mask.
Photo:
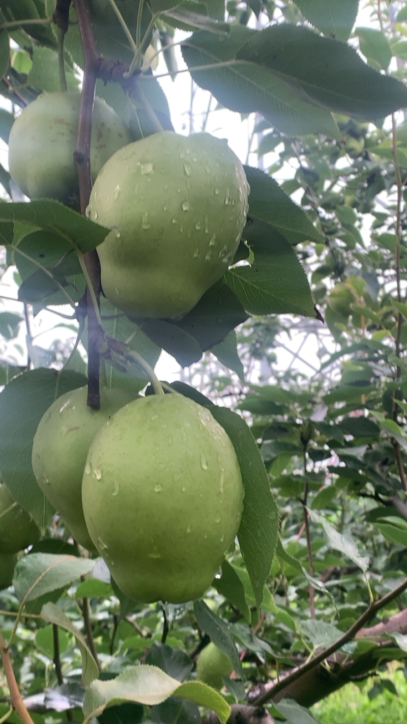
[(59, 397), (34, 437), (35, 476), (127, 596), (195, 599), (239, 529), (236, 452), (210, 411), (189, 398), (150, 395), (124, 404), (125, 396), (104, 390), (100, 411), (87, 408), (86, 388)]

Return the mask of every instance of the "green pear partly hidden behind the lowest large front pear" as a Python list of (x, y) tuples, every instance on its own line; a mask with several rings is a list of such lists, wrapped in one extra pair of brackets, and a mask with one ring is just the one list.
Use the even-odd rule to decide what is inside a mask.
[(40, 419), (33, 440), (32, 464), (43, 494), (68, 524), (74, 539), (95, 550), (82, 510), (82, 475), (96, 432), (134, 395), (100, 390), (100, 410), (87, 407), (87, 387), (58, 397)]

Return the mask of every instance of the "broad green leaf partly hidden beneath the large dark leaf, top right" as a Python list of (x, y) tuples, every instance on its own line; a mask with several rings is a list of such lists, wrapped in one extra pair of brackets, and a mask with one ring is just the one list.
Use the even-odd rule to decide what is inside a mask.
[[(325, 133), (339, 139), (340, 132), (328, 111), (293, 93), (283, 78), (257, 59), (239, 56), (249, 38), (257, 45), (264, 32), (235, 25), (226, 38), (203, 30), (187, 38), (181, 50), (195, 83), (210, 90), (232, 111), (261, 113), (286, 135)], [(197, 66), (205, 70), (194, 70)]]

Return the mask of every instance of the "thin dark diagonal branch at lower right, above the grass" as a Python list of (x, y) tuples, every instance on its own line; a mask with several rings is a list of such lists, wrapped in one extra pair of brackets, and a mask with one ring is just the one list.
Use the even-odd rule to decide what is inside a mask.
[[(290, 688), (291, 684), (294, 684), (294, 682), (309, 674), (309, 672), (312, 669), (316, 668), (318, 665), (320, 665), (322, 661), (328, 659), (332, 654), (335, 654), (338, 649), (343, 647), (344, 644), (347, 644), (348, 641), (354, 639), (358, 631), (361, 630), (361, 628), (364, 626), (365, 623), (367, 623), (367, 621), (373, 618), (377, 611), (379, 611), (381, 608), (385, 607), (388, 603), (397, 598), (406, 589), (407, 578), (404, 579), (403, 583), (400, 584), (400, 586), (397, 586), (397, 588), (393, 589), (393, 591), (390, 591), (390, 593), (382, 596), (382, 598), (372, 603), (372, 605), (370, 605), (367, 610), (365, 610), (364, 613), (359, 616), (355, 623), (350, 626), (350, 628), (348, 628), (348, 631), (346, 631), (343, 636), (340, 636), (340, 639), (335, 641), (329, 647), (323, 649), (322, 652), (312, 657), (312, 659), (295, 668), (284, 678), (280, 678), (280, 681), (270, 681), (262, 684), (262, 686), (260, 687), (257, 687), (258, 691), (254, 694), (253, 697), (254, 704), (257, 704), (257, 706), (261, 706), (262, 704), (269, 702), (271, 699), (276, 699), (276, 696), (280, 693), (280, 691)], [(252, 696), (250, 696), (249, 698), (252, 699)]]

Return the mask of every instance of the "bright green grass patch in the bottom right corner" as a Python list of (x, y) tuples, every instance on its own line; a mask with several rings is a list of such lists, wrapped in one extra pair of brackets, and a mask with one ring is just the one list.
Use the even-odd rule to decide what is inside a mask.
[[(384, 690), (374, 699), (367, 692), (381, 679), (393, 681), (398, 696)], [(354, 683), (343, 686), (314, 704), (312, 713), (319, 724), (406, 724), (407, 681), (403, 670), (389, 670), (369, 678), (362, 689)]]

